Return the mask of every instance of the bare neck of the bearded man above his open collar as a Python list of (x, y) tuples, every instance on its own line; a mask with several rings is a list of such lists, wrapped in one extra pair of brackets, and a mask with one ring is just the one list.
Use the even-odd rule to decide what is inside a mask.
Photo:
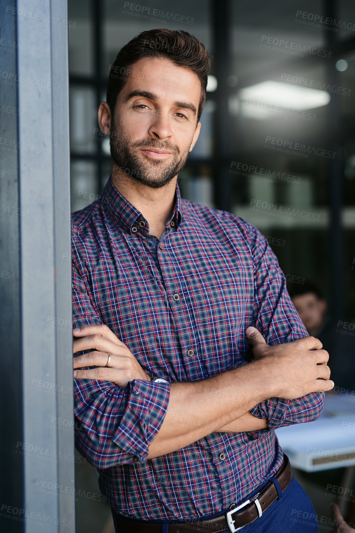
[(112, 183), (122, 196), (142, 213), (149, 224), (150, 235), (160, 239), (175, 205), (177, 175), (164, 187), (154, 189), (138, 183), (130, 176), (112, 173)]

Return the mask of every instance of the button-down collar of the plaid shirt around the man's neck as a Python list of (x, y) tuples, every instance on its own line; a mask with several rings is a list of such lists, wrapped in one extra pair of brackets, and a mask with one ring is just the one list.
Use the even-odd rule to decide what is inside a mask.
[[(121, 193), (114, 187), (112, 183), (112, 175), (110, 174), (109, 180), (106, 183), (101, 203), (105, 203), (113, 219), (125, 228), (130, 233), (136, 233), (137, 231), (149, 234), (149, 224), (147, 219), (144, 218), (142, 213), (138, 211)], [(171, 229), (178, 229), (181, 222), (181, 197), (178, 182), (176, 182), (175, 190), (175, 206), (172, 210), (172, 214), (167, 220), (165, 227)], [(135, 229), (136, 228), (136, 229)]]

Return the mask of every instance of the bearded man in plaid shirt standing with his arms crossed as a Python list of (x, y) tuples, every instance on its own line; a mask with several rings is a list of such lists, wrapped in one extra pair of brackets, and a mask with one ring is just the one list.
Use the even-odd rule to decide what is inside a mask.
[(209, 66), (185, 31), (122, 48), (98, 111), (112, 174), (72, 214), (76, 446), (119, 533), (303, 531), (292, 509), (315, 516), (274, 429), (319, 416), (328, 354), (260, 232), (180, 197)]

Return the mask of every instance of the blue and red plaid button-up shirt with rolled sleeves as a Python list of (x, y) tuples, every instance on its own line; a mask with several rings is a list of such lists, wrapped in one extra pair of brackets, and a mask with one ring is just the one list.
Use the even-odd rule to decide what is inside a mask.
[[(246, 364), (251, 325), (271, 345), (308, 336), (277, 259), (253, 225), (182, 199), (177, 183), (166, 228), (160, 241), (150, 235), (111, 176), (101, 198), (72, 213), (73, 327), (108, 325), (145, 372), (169, 382)], [(324, 401), (324, 393), (271, 398), (251, 409), (267, 419), (268, 430), (214, 432), (146, 459), (170, 385), (74, 385), (76, 446), (97, 468), (113, 510), (141, 519), (205, 518), (240, 503), (282, 464), (274, 429), (317, 418)]]

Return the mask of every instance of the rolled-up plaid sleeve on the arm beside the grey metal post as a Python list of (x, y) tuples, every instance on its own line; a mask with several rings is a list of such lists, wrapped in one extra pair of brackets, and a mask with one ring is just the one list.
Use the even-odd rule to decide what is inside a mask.
[[(74, 262), (72, 269), (73, 327), (104, 324)], [(76, 447), (90, 464), (106, 469), (146, 460), (166, 416), (168, 383), (133, 379), (119, 387), (104, 380), (74, 379), (73, 395)]]

